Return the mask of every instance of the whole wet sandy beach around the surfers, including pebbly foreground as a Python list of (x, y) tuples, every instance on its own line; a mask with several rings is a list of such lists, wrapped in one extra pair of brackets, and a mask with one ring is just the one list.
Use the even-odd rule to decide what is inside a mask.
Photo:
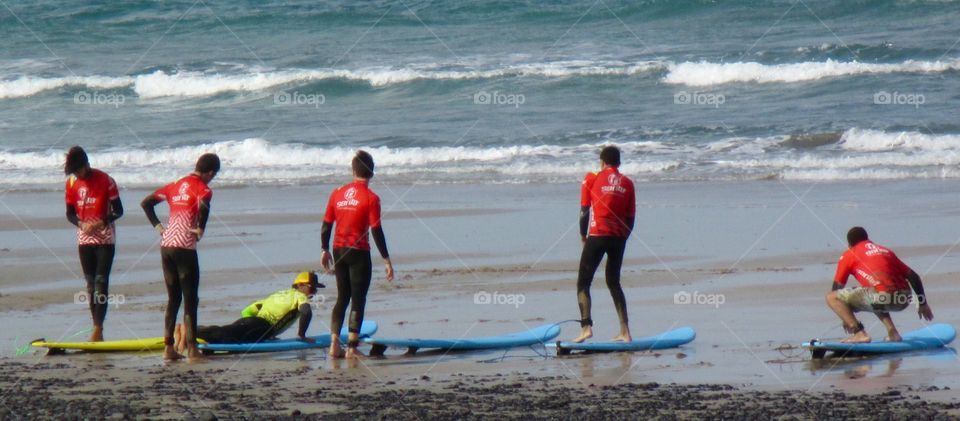
[[(201, 324), (229, 322), (295, 272), (317, 267), (319, 209), (331, 188), (215, 190), (200, 245)], [(376, 264), (367, 318), (380, 324), (378, 337), (474, 337), (557, 322), (561, 339), (575, 335), (576, 185), (373, 188), (398, 273), (387, 283)], [(172, 364), (151, 353), (44, 356), (30, 340), (82, 340), (89, 329), (86, 307), (73, 300), (82, 288), (73, 231), (59, 215), (59, 194), (11, 192), (0, 197), (0, 418), (957, 417), (960, 366), (950, 347), (828, 362), (798, 347), (842, 335), (823, 294), (843, 251), (839, 234), (853, 224), (923, 276), (937, 322), (960, 318), (950, 305), (960, 299), (951, 282), (960, 235), (944, 229), (957, 190), (930, 181), (641, 183), (623, 275), (631, 328), (645, 336), (692, 326), (693, 343), (569, 357), (543, 347), (413, 357), (388, 350), (355, 367), (306, 351)], [(107, 339), (161, 333), (158, 244), (136, 206), (145, 194), (121, 193), (127, 214), (111, 293), (123, 298), (108, 313)], [(593, 295), (602, 339), (615, 334), (616, 315), (600, 276)], [(332, 278), (321, 283), (310, 334), (327, 330), (335, 297)], [(478, 293), (523, 299), (478, 304)], [(722, 298), (678, 304), (678, 293)], [(903, 332), (923, 326), (912, 309), (894, 319)], [(862, 320), (882, 335), (875, 318)]]

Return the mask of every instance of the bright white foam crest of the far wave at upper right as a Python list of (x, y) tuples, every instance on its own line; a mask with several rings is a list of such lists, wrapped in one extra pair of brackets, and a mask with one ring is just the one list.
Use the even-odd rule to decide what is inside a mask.
[(864, 74), (942, 73), (954, 70), (960, 70), (960, 60), (907, 60), (889, 64), (834, 60), (788, 64), (701, 61), (670, 64), (663, 80), (678, 85), (714, 86), (733, 82), (792, 83)]

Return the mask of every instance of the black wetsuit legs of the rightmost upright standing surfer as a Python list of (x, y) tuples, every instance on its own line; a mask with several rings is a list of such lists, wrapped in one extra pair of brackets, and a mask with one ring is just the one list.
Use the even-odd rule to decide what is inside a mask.
[(580, 255), (580, 271), (577, 275), (577, 302), (580, 305), (580, 325), (593, 326), (591, 315), (590, 284), (593, 276), (607, 255), (605, 275), (607, 288), (613, 297), (613, 305), (620, 320), (626, 323), (627, 303), (620, 287), (620, 267), (623, 265), (623, 252), (627, 239), (622, 237), (587, 237)]

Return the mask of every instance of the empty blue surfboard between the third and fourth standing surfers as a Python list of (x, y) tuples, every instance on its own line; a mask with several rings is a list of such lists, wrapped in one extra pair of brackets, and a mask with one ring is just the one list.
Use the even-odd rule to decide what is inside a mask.
[(438, 349), (451, 351), (468, 351), (481, 349), (503, 349), (518, 346), (545, 344), (560, 335), (560, 326), (556, 324), (543, 325), (525, 332), (509, 335), (486, 336), (463, 339), (390, 339), (368, 338), (364, 342), (373, 345), (370, 355), (383, 355), (387, 347), (407, 348), (407, 354), (416, 353), (420, 349)]

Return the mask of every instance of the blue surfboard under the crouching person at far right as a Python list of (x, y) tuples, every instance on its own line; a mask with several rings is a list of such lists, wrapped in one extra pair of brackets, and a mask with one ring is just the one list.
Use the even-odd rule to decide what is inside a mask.
[(894, 352), (918, 351), (943, 348), (957, 337), (957, 330), (946, 323), (926, 326), (902, 335), (901, 342), (870, 342), (865, 344), (847, 344), (812, 340), (801, 346), (810, 350), (814, 358), (823, 358), (827, 351), (839, 355), (889, 354)]

